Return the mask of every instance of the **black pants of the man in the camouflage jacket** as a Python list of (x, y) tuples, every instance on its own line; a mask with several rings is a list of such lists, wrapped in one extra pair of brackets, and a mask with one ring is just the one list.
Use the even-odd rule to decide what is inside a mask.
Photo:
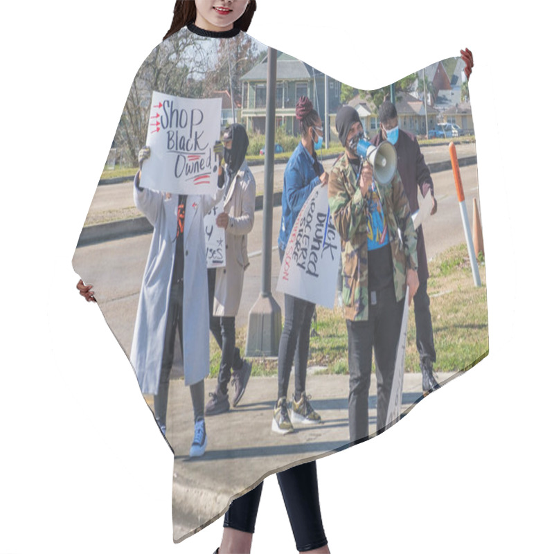
[(350, 373), (348, 428), (352, 442), (369, 435), (368, 393), (372, 350), (375, 350), (377, 376), (377, 432), (386, 425), (388, 401), (391, 398), (403, 301), (396, 301), (392, 284), (378, 291), (376, 296), (377, 303), (370, 303), (366, 321), (346, 321)]

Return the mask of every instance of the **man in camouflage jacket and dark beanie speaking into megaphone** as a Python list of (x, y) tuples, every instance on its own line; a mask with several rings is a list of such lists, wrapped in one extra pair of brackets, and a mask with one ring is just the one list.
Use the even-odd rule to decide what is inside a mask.
[[(357, 111), (337, 112), (344, 154), (329, 177), (329, 206), (342, 239), (343, 304), (348, 330), (350, 441), (369, 435), (368, 391), (372, 350), (377, 370), (377, 432), (384, 429), (402, 323), (406, 285), (418, 289), (417, 235), (398, 172), (387, 185), (373, 179), (357, 143), (364, 128)], [(399, 236), (400, 231), (400, 236)]]

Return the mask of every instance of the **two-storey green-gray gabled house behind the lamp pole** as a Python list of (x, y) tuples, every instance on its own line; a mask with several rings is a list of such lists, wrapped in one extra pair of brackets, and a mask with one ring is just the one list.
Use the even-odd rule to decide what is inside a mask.
[[(267, 102), (267, 55), (242, 75), (242, 124), (249, 132), (265, 134)], [(277, 53), (276, 126), (297, 135), (296, 102), (301, 96), (312, 100), (314, 109), (325, 118), (325, 75), (312, 66), (283, 52)], [(328, 109), (337, 111), (341, 98), (341, 82), (328, 78)]]

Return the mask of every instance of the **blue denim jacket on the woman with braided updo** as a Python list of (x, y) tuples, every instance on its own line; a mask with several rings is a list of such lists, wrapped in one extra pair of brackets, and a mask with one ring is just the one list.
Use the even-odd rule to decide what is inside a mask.
[(314, 158), (302, 143), (292, 152), (285, 168), (283, 181), (283, 216), (279, 232), (279, 248), (285, 250), (289, 236), (304, 202), (314, 188), (321, 184), (319, 176), (323, 174), (323, 166), (318, 160), (319, 171), (314, 170)]

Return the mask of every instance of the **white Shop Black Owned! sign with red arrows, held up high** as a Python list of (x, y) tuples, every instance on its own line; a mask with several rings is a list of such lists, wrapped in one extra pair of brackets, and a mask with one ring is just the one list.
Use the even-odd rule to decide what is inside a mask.
[(152, 93), (141, 186), (164, 193), (211, 195), (217, 186), (221, 98), (191, 99)]

